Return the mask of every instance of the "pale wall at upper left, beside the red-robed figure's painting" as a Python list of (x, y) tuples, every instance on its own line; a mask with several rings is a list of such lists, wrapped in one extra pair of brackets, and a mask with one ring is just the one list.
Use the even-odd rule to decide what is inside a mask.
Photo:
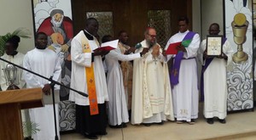
[(26, 27), (32, 32), (32, 38), (21, 38), (18, 51), (26, 53), (34, 48), (31, 0), (0, 0), (0, 17), (0, 36)]

